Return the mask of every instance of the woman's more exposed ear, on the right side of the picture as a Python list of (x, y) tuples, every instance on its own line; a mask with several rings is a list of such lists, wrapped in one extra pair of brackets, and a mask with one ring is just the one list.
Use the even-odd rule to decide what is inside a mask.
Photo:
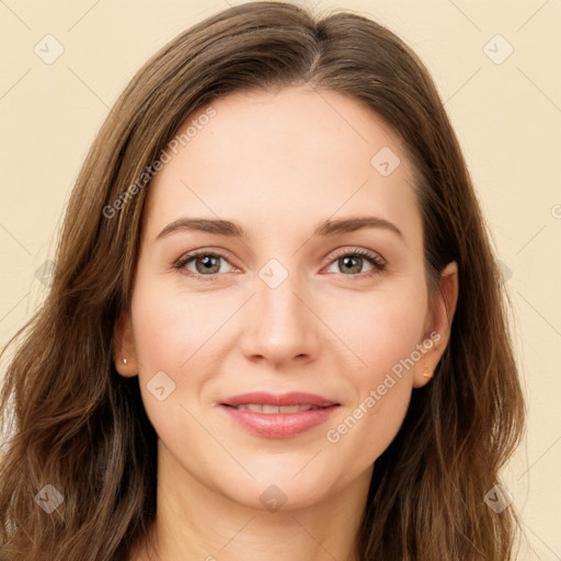
[(427, 312), (425, 333), (420, 342), (423, 352), (413, 373), (414, 388), (421, 388), (431, 380), (450, 340), (451, 321), (458, 302), (458, 264), (456, 261), (446, 265), (438, 284), (438, 291)]

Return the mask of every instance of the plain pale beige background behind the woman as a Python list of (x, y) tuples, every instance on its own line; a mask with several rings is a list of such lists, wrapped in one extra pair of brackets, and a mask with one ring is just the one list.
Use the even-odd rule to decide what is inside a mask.
[[(504, 482), (529, 540), (520, 559), (559, 560), (561, 2), (316, 2), (308, 5), (351, 8), (389, 26), (420, 54), (445, 100), (516, 317), (529, 425)], [(53, 256), (72, 182), (126, 82), (179, 32), (233, 3), (0, 2), (1, 346), (45, 295), (35, 272)], [(64, 47), (50, 65), (34, 51), (56, 53), (47, 34)]]

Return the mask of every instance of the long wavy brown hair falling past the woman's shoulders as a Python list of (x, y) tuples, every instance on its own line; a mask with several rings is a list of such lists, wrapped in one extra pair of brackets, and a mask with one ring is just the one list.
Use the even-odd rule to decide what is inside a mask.
[[(393, 33), (348, 11), (320, 18), (284, 2), (244, 3), (183, 32), (136, 73), (99, 131), (49, 294), (10, 341), (0, 407), (4, 427), (11, 415), (15, 424), (0, 467), (0, 557), (125, 560), (147, 535), (157, 435), (112, 345), (130, 310), (151, 167), (213, 99), (297, 84), (366, 103), (401, 137), (419, 178), (430, 286), (450, 261), (459, 267), (448, 347), (375, 463), (360, 559), (511, 559), (516, 514), (493, 512), (484, 496), (519, 442), (525, 408), (501, 275), (450, 122)], [(45, 485), (64, 496), (51, 514), (37, 499), (54, 493)]]

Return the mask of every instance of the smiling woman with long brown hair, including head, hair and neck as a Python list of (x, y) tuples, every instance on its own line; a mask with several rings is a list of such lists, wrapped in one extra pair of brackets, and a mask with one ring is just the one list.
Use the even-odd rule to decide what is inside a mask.
[(512, 558), (500, 274), (385, 27), (250, 2), (182, 33), (107, 116), (56, 264), (3, 386), (3, 559)]

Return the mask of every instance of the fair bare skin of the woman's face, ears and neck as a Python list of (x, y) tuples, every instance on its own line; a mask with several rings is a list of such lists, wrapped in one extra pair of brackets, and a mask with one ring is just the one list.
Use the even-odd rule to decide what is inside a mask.
[[(398, 137), (356, 100), (299, 87), (211, 106), (216, 116), (149, 187), (131, 316), (119, 318), (114, 342), (116, 368), (139, 376), (159, 435), (157, 558), (355, 560), (373, 465), (448, 342), (457, 267), (446, 267), (430, 306), (414, 170)], [(388, 176), (370, 164), (382, 147), (401, 160)], [(402, 237), (387, 228), (312, 236), (351, 216), (383, 218)], [(231, 220), (249, 237), (183, 229), (157, 239), (181, 217)], [(215, 280), (194, 276), (202, 256), (199, 270), (197, 260), (173, 267), (198, 249), (225, 256)], [(385, 270), (358, 257), (347, 272), (340, 257), (357, 249), (381, 256)], [(273, 257), (288, 274), (275, 288), (259, 276)], [(327, 432), (360, 403), (364, 411), (369, 391), (432, 332), (437, 344), (329, 442)], [(147, 389), (160, 370), (175, 383), (163, 401)], [(256, 390), (341, 405), (324, 424), (270, 439), (216, 407)], [(272, 484), (286, 496), (276, 512), (260, 500)], [(147, 559), (144, 543), (130, 559)]]

